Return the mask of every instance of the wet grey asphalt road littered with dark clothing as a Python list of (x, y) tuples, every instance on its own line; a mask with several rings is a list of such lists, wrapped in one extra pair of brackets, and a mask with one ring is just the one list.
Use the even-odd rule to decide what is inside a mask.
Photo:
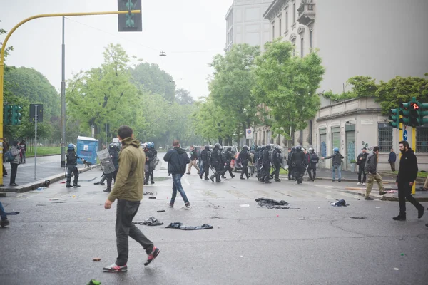
[[(157, 199), (145, 196), (134, 219), (164, 222), (138, 226), (161, 249), (152, 264), (143, 266), (146, 254), (130, 239), (128, 272), (102, 272), (116, 259), (116, 203), (103, 209), (107, 195), (89, 181), (99, 177), (91, 170), (81, 175), (80, 189), (58, 182), (0, 198), (6, 212), (20, 212), (0, 229), (0, 284), (428, 284), (428, 214), (418, 220), (410, 204), (407, 222), (395, 222), (396, 202), (358, 200), (337, 183), (263, 185), (239, 177), (213, 183), (192, 170), (183, 187), (193, 208), (180, 209), (178, 195), (169, 209), (172, 181), (165, 166), (144, 190)], [(258, 197), (300, 209), (259, 208)], [(335, 199), (350, 205), (330, 206)], [(165, 229), (170, 222), (214, 229)]]

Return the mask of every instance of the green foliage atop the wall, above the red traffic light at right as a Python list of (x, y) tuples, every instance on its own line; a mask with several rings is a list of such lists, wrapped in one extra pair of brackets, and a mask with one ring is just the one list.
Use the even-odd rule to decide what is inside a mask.
[(428, 79), (396, 76), (387, 82), (380, 81), (376, 95), (384, 114), (389, 109), (397, 108), (399, 103), (409, 102), (412, 97), (416, 97), (419, 102), (428, 103)]

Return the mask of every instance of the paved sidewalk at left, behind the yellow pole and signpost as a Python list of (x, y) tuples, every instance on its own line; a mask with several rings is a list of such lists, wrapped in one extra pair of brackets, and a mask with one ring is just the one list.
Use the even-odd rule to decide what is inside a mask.
[[(16, 174), (16, 184), (19, 186), (9, 186), (11, 165), (10, 163), (4, 163), (7, 176), (3, 177), (3, 185), (0, 187), (0, 192), (27, 192), (34, 190), (38, 187), (43, 186), (45, 180), (51, 180), (56, 182), (65, 177), (65, 169), (61, 168), (61, 155), (52, 155), (47, 157), (37, 157), (37, 168), (36, 168), (36, 180), (34, 180), (34, 157), (26, 159), (25, 164), (18, 166), (18, 172)], [(91, 170), (93, 167), (98, 165), (84, 168), (83, 165), (77, 165), (79, 172), (85, 172)], [(101, 172), (100, 172), (101, 176)]]

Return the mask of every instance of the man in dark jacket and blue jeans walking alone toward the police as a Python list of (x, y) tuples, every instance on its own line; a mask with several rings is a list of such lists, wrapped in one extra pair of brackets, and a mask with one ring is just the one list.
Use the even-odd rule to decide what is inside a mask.
[(190, 163), (190, 159), (187, 152), (185, 152), (183, 148), (180, 148), (179, 140), (173, 141), (173, 149), (166, 152), (163, 160), (168, 162), (168, 175), (173, 175), (173, 195), (171, 196), (169, 207), (174, 207), (175, 197), (177, 197), (178, 191), (184, 201), (184, 207), (181, 209), (190, 209), (190, 202), (188, 197), (185, 195), (183, 185), (181, 185), (181, 177), (183, 177), (185, 167)]

